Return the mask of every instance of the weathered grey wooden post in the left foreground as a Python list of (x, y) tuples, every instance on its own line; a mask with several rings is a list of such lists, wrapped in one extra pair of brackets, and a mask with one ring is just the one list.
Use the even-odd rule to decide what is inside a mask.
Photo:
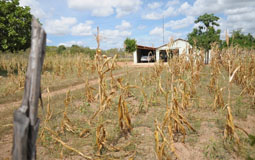
[(14, 112), (13, 160), (35, 160), (39, 130), (38, 102), (41, 99), (41, 71), (45, 55), (46, 33), (32, 19), (31, 51), (21, 106)]

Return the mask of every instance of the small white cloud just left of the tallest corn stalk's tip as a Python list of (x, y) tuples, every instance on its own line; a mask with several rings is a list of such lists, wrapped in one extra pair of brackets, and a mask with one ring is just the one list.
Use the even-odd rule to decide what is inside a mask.
[(90, 36), (92, 35), (92, 21), (79, 23), (71, 28), (71, 33), (74, 36)]

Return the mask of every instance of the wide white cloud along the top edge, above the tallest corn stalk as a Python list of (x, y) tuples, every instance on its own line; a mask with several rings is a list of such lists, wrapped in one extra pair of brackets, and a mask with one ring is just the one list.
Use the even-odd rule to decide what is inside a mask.
[(116, 12), (117, 17), (122, 17), (136, 12), (141, 4), (141, 0), (100, 0), (100, 2), (94, 0), (67, 0), (69, 8), (91, 11), (93, 16), (110, 16)]

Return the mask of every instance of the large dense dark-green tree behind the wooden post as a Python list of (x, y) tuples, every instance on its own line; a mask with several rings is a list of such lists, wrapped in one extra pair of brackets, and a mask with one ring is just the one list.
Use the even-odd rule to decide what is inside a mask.
[(0, 0), (0, 6), (0, 50), (13, 52), (29, 48), (30, 8), (19, 6), (19, 0)]

